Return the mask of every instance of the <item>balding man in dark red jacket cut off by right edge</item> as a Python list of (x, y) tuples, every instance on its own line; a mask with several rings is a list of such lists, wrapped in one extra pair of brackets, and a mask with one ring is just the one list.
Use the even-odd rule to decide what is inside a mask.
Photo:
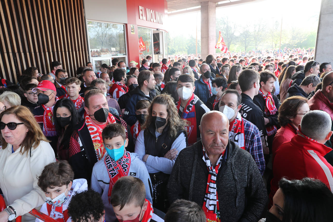
[(323, 110), (333, 119), (333, 72), (324, 76), (321, 90), (313, 95), (308, 104), (310, 110)]

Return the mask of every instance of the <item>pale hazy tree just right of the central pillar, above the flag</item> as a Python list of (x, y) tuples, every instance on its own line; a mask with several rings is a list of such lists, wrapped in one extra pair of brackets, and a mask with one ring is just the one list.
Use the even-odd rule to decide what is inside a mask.
[(231, 44), (237, 43), (237, 36), (235, 35), (236, 29), (236, 23), (230, 22), (228, 18), (216, 19), (216, 36), (218, 38), (218, 31), (221, 31), (221, 35), (228, 49)]

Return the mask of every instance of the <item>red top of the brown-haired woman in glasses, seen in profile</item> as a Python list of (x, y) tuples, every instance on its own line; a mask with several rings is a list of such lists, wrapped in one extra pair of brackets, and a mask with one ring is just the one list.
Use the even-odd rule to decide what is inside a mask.
[(291, 123), (288, 123), (277, 130), (272, 144), (273, 158), (278, 147), (284, 142), (289, 142), (296, 133), (297, 129)]

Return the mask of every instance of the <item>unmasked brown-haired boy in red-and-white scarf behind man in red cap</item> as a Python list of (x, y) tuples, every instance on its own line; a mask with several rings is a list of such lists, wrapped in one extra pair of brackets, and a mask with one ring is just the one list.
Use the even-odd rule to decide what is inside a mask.
[(78, 78), (67, 78), (66, 87), (67, 94), (66, 97), (69, 98), (75, 105), (76, 110), (84, 107), (84, 99), (79, 95), (81, 90), (81, 81)]

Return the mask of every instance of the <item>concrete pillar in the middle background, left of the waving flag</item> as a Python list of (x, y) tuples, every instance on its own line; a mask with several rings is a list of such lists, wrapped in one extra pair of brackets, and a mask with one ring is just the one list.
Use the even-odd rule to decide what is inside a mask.
[(216, 3), (201, 2), (201, 58), (215, 56), (216, 45)]

